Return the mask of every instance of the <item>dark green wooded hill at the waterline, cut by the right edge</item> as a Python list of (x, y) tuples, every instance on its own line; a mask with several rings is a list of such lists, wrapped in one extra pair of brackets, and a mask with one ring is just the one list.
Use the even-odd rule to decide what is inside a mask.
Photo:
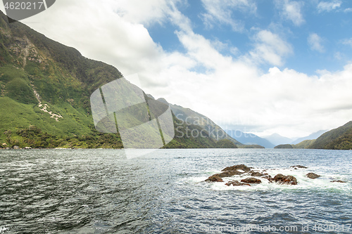
[(351, 150), (352, 149), (352, 121), (337, 129), (327, 131), (308, 146), (310, 149)]

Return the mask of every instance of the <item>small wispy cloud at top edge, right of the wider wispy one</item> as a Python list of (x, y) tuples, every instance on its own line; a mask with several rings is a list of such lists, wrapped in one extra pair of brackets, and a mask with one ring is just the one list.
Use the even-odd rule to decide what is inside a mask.
[(276, 0), (275, 4), (281, 8), (282, 16), (286, 20), (291, 20), (294, 25), (300, 26), (305, 22), (301, 13), (301, 8), (303, 7), (302, 1)]

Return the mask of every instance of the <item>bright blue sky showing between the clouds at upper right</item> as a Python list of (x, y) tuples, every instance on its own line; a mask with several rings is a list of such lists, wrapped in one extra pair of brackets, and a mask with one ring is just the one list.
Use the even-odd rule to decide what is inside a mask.
[[(234, 29), (231, 22), (217, 20), (214, 16), (213, 20), (207, 22), (204, 15), (209, 14), (209, 11), (202, 1), (178, 3), (179, 10), (191, 20), (196, 34), (237, 48), (237, 53), (222, 48), (220, 51), (226, 56), (236, 58), (246, 53), (251, 49), (256, 29), (268, 29), (285, 38), (293, 48), (284, 63), (278, 66), (280, 68), (289, 67), (306, 74), (315, 74), (317, 70), (340, 70), (346, 60), (351, 59), (352, 41), (348, 40), (352, 38), (352, 1), (261, 0), (253, 1), (256, 6), (247, 10), (231, 3), (238, 1), (227, 2), (224, 4), (227, 5), (224, 8), (230, 16), (227, 19), (237, 22), (240, 29)], [(296, 15), (294, 10), (291, 10), (292, 16), (283, 13), (282, 8), (290, 7), (281, 6), (284, 4), (291, 4), (297, 11)], [(174, 33), (179, 28), (170, 20), (156, 22), (146, 28), (153, 40), (161, 44), (165, 51), (184, 51)], [(270, 65), (262, 63), (260, 68), (268, 70)]]

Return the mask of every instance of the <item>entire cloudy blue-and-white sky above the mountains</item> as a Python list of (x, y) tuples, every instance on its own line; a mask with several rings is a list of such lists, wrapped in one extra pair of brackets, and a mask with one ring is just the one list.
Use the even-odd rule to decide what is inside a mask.
[(223, 129), (294, 138), (352, 120), (349, 0), (57, 0), (21, 22)]

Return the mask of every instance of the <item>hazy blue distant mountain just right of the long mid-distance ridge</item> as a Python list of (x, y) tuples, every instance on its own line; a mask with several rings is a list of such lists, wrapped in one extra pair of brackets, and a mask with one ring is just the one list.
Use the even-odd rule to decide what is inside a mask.
[(262, 145), (265, 148), (274, 148), (274, 144), (270, 141), (256, 136), (255, 134), (246, 134), (239, 130), (225, 130), (232, 138), (243, 143), (244, 145)]

